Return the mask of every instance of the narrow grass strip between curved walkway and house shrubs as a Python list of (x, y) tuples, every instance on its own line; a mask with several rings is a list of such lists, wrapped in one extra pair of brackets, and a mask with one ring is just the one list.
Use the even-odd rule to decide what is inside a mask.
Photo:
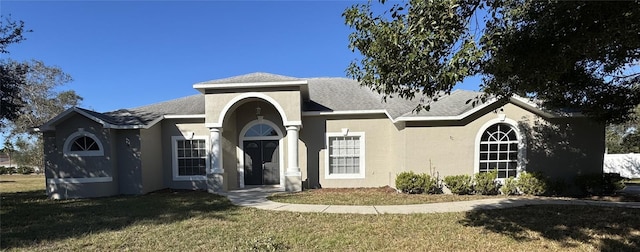
[(497, 197), (505, 198), (500, 195), (405, 194), (398, 193), (390, 187), (379, 187), (312, 189), (296, 193), (277, 193), (269, 196), (268, 199), (291, 204), (381, 206), (465, 201)]

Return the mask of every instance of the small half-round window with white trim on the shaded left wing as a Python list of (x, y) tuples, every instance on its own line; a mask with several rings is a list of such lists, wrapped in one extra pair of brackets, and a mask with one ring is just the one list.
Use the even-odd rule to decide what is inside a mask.
[(64, 154), (74, 156), (103, 156), (104, 149), (98, 138), (84, 130), (78, 130), (64, 142)]

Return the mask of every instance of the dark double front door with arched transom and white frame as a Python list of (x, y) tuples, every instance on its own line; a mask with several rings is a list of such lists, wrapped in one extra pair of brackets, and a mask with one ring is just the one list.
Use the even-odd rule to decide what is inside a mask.
[(250, 185), (284, 186), (282, 140), (282, 131), (269, 120), (254, 120), (243, 127), (238, 141), (240, 188)]

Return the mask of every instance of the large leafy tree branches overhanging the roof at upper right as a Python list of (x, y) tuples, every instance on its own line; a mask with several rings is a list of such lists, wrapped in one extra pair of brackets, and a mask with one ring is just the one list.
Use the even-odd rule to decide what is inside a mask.
[[(385, 4), (384, 0), (379, 2)], [(437, 99), (464, 78), (549, 109), (621, 122), (640, 103), (640, 3), (532, 0), (375, 2), (343, 16), (362, 58), (347, 75), (386, 96)], [(418, 109), (429, 109), (429, 100)]]

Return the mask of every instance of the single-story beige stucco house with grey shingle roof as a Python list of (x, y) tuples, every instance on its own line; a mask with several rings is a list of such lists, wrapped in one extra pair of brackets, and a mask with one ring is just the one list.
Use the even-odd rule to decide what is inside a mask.
[(414, 112), (345, 78), (252, 73), (200, 94), (108, 113), (70, 108), (40, 127), (52, 198), (394, 186), (396, 174), (497, 169), (563, 180), (602, 172), (604, 124), (527, 99), (457, 90)]

